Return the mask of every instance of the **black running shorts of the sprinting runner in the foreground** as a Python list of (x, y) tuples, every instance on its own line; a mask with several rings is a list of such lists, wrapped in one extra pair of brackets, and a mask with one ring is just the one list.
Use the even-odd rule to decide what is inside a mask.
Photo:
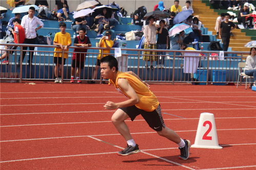
[(152, 128), (154, 131), (162, 131), (162, 127), (165, 128), (164, 119), (161, 114), (161, 107), (160, 105), (157, 109), (153, 110), (152, 112), (147, 112), (145, 110), (141, 110), (136, 106), (129, 106), (120, 108), (123, 110), (133, 121), (137, 115), (142, 115), (143, 118), (148, 123), (149, 127)]

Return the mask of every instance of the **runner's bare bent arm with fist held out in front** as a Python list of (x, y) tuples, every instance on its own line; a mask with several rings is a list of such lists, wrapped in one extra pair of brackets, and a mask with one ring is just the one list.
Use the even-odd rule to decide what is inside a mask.
[(133, 106), (140, 102), (139, 96), (136, 94), (134, 89), (131, 87), (131, 85), (128, 83), (126, 79), (119, 79), (117, 84), (120, 86), (120, 88), (127, 94), (128, 100), (120, 103), (114, 103), (108, 101), (104, 107), (105, 109), (112, 110), (117, 109), (121, 107), (128, 107)]

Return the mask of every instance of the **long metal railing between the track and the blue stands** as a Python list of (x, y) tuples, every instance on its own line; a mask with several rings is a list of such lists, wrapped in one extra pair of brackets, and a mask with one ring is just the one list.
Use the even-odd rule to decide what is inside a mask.
[[(15, 81), (54, 81), (54, 62), (53, 53), (55, 45), (34, 45), (34, 44), (0, 44), (7, 45), (9, 48), (2, 50), (9, 55), (9, 63), (0, 64), (0, 80), (15, 80)], [(16, 50), (11, 50), (11, 46), (19, 46)], [(23, 50), (24, 46), (36, 47), (33, 61), (31, 64), (27, 63), (30, 50)], [(62, 60), (62, 81), (69, 81), (71, 76), (71, 60), (74, 48), (83, 48), (70, 46), (66, 64)], [(89, 47), (86, 53), (86, 61), (84, 69), (81, 69), (81, 81), (90, 81), (92, 79), (97, 55), (100, 47)], [(165, 58), (163, 66), (159, 66), (158, 61), (151, 61), (153, 67), (147, 68), (146, 62), (143, 60), (145, 51), (148, 52), (166, 52), (166, 55), (158, 55), (157, 57)], [(24, 61), (19, 61), (19, 56), (27, 52)], [(80, 53), (80, 52), (79, 52)], [(83, 54), (83, 53), (81, 53)], [(195, 54), (195, 55), (191, 55)], [(200, 54), (200, 55), (199, 55)], [(214, 54), (214, 55), (213, 55)], [(244, 55), (249, 52), (225, 52), (228, 56), (224, 60), (220, 60), (218, 51), (180, 51), (180, 50), (146, 50), (134, 48), (122, 48), (122, 57), (118, 57), (119, 70), (131, 70), (135, 72), (142, 80), (147, 82), (168, 82), (174, 84), (175, 82), (190, 82), (193, 84), (224, 84), (235, 83), (238, 79), (238, 63), (243, 61)], [(109, 55), (114, 56), (114, 48), (111, 48)], [(18, 63), (19, 61), (19, 63)], [(149, 61), (150, 63), (150, 61)], [(75, 66), (75, 70), (77, 65)], [(97, 81), (102, 82), (100, 71), (97, 72)]]

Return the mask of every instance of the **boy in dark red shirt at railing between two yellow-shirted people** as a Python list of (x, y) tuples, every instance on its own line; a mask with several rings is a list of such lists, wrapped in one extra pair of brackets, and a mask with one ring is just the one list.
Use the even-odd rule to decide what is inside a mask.
[(80, 72), (81, 69), (85, 67), (85, 57), (87, 53), (87, 47), (91, 46), (91, 41), (89, 37), (85, 36), (86, 29), (81, 28), (79, 30), (79, 35), (74, 39), (74, 46), (80, 46), (85, 48), (74, 48), (73, 57), (72, 57), (72, 66), (71, 66), (71, 81), (70, 83), (74, 82), (74, 74), (76, 68), (76, 79), (77, 83), (81, 83), (80, 81)]

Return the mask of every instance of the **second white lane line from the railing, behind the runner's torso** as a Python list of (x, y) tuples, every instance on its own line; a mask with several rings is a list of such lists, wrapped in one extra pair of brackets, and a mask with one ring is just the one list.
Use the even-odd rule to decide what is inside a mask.
[[(168, 98), (168, 96), (156, 96), (157, 98)], [(11, 99), (70, 99), (70, 98), (125, 98), (125, 96), (55, 96), (55, 97), (31, 97), (31, 98), (1, 98), (1, 100)], [(256, 98), (256, 96), (170, 96), (170, 98)]]

